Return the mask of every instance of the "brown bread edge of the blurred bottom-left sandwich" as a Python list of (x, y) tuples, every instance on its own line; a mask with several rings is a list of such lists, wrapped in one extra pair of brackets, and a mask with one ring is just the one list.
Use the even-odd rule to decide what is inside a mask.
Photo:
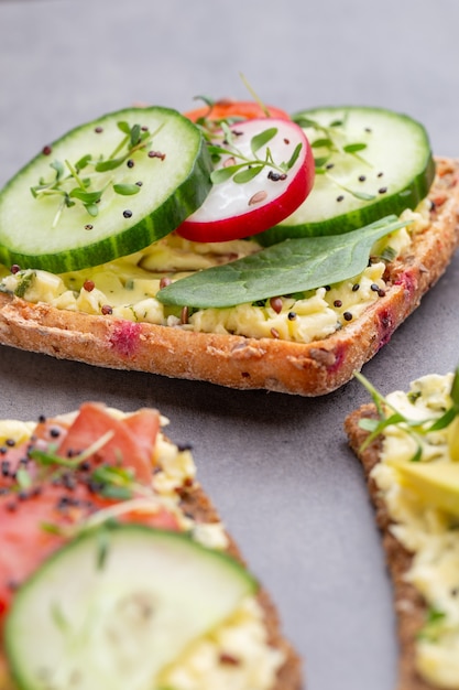
[[(219, 514), (212, 502), (199, 484), (193, 485), (182, 495), (183, 509), (189, 513), (198, 522), (220, 521)], [(245, 564), (241, 551), (227, 532), (229, 539), (228, 552)], [(284, 637), (277, 610), (267, 591), (261, 585), (258, 600), (264, 611), (269, 644), (284, 654), (285, 661), (277, 673), (277, 680), (272, 690), (303, 690), (303, 661), (291, 643)]]

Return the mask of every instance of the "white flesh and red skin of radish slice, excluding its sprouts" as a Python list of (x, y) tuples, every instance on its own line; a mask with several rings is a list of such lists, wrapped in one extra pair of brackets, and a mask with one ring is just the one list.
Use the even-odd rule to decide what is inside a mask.
[[(231, 127), (234, 147), (244, 149), (244, 153), (251, 157), (251, 139), (269, 128), (276, 128), (278, 133), (276, 143), (270, 141), (267, 148), (286, 147), (285, 155), (278, 158), (278, 152), (273, 153), (275, 163), (287, 162), (297, 143), (302, 144), (299, 157), (286, 179), (270, 180), (267, 173), (272, 169), (266, 168), (250, 183), (238, 184), (229, 180), (215, 184), (200, 208), (177, 229), (182, 237), (212, 242), (256, 235), (281, 223), (305, 201), (313, 188), (315, 163), (309, 142), (297, 125), (274, 118), (238, 122)], [(264, 148), (258, 154), (264, 159)], [(229, 158), (223, 155), (217, 168), (223, 168)], [(236, 158), (236, 162), (241, 161)]]

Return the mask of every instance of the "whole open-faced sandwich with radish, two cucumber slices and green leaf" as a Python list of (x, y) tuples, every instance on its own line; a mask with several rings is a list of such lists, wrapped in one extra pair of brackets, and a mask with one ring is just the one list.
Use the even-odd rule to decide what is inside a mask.
[(422, 125), (379, 108), (110, 114), (0, 193), (0, 343), (326, 393), (445, 271), (457, 181)]

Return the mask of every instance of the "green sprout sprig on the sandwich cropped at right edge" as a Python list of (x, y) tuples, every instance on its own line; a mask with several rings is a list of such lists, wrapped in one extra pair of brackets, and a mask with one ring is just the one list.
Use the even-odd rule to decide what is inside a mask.
[(439, 418), (428, 418), (422, 421), (418, 419), (409, 419), (396, 410), (360, 371), (354, 371), (353, 375), (370, 392), (378, 410), (378, 419), (363, 418), (359, 422), (360, 428), (369, 432), (369, 435), (360, 448), (361, 451), (368, 448), (379, 435), (384, 433), (387, 427), (396, 424), (401, 425), (414, 440), (416, 451), (411, 457), (411, 462), (418, 462), (423, 453), (423, 438), (428, 433), (446, 429), (453, 419), (459, 417), (459, 367), (455, 371), (451, 384), (451, 406)]

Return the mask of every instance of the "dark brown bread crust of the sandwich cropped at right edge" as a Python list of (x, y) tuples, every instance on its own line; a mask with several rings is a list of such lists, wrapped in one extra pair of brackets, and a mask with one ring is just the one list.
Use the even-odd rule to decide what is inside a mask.
[(368, 432), (359, 427), (359, 421), (363, 418), (376, 417), (375, 406), (364, 405), (347, 417), (345, 431), (348, 434), (351, 449), (363, 465), (393, 583), (400, 644), (397, 690), (435, 690), (435, 686), (431, 686), (419, 676), (415, 666), (416, 635), (425, 623), (426, 606), (417, 590), (404, 580), (404, 575), (412, 563), (412, 554), (391, 533), (391, 518), (378, 490), (378, 486), (371, 477), (371, 471), (380, 462), (381, 436), (363, 451), (360, 450)]

